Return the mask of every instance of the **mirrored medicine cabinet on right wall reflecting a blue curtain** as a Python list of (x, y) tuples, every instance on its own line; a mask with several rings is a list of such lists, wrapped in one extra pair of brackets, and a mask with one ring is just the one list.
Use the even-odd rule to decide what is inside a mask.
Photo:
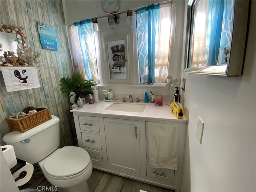
[(248, 1), (189, 0), (184, 72), (241, 76)]

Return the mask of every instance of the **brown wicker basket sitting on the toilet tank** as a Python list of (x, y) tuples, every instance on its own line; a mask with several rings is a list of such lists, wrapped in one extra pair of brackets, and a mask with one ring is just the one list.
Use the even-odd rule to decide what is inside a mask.
[(26, 132), (52, 118), (49, 109), (38, 111), (21, 119), (6, 118), (10, 130)]

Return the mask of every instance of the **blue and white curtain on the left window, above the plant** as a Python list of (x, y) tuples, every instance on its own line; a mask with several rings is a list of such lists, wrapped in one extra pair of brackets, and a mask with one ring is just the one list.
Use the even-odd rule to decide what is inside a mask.
[(74, 72), (79, 72), (86, 80), (98, 84), (98, 70), (92, 20), (82, 20), (70, 26)]

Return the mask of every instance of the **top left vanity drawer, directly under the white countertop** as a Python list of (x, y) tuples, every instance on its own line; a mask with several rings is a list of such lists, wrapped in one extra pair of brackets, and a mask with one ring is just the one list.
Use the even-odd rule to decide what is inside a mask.
[(98, 117), (90, 117), (90, 116), (78, 116), (80, 130), (84, 131), (92, 131), (92, 132), (100, 132), (99, 120)]

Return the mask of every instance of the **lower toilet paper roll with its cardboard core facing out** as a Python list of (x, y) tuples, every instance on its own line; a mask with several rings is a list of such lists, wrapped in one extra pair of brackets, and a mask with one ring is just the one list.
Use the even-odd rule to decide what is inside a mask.
[(34, 171), (33, 165), (30, 163), (26, 163), (26, 165), (24, 167), (20, 168), (16, 172), (14, 172), (14, 174), (12, 174), (12, 176), (15, 180), (16, 186), (17, 187), (22, 186), (26, 182), (28, 182), (33, 175), (33, 171)]

